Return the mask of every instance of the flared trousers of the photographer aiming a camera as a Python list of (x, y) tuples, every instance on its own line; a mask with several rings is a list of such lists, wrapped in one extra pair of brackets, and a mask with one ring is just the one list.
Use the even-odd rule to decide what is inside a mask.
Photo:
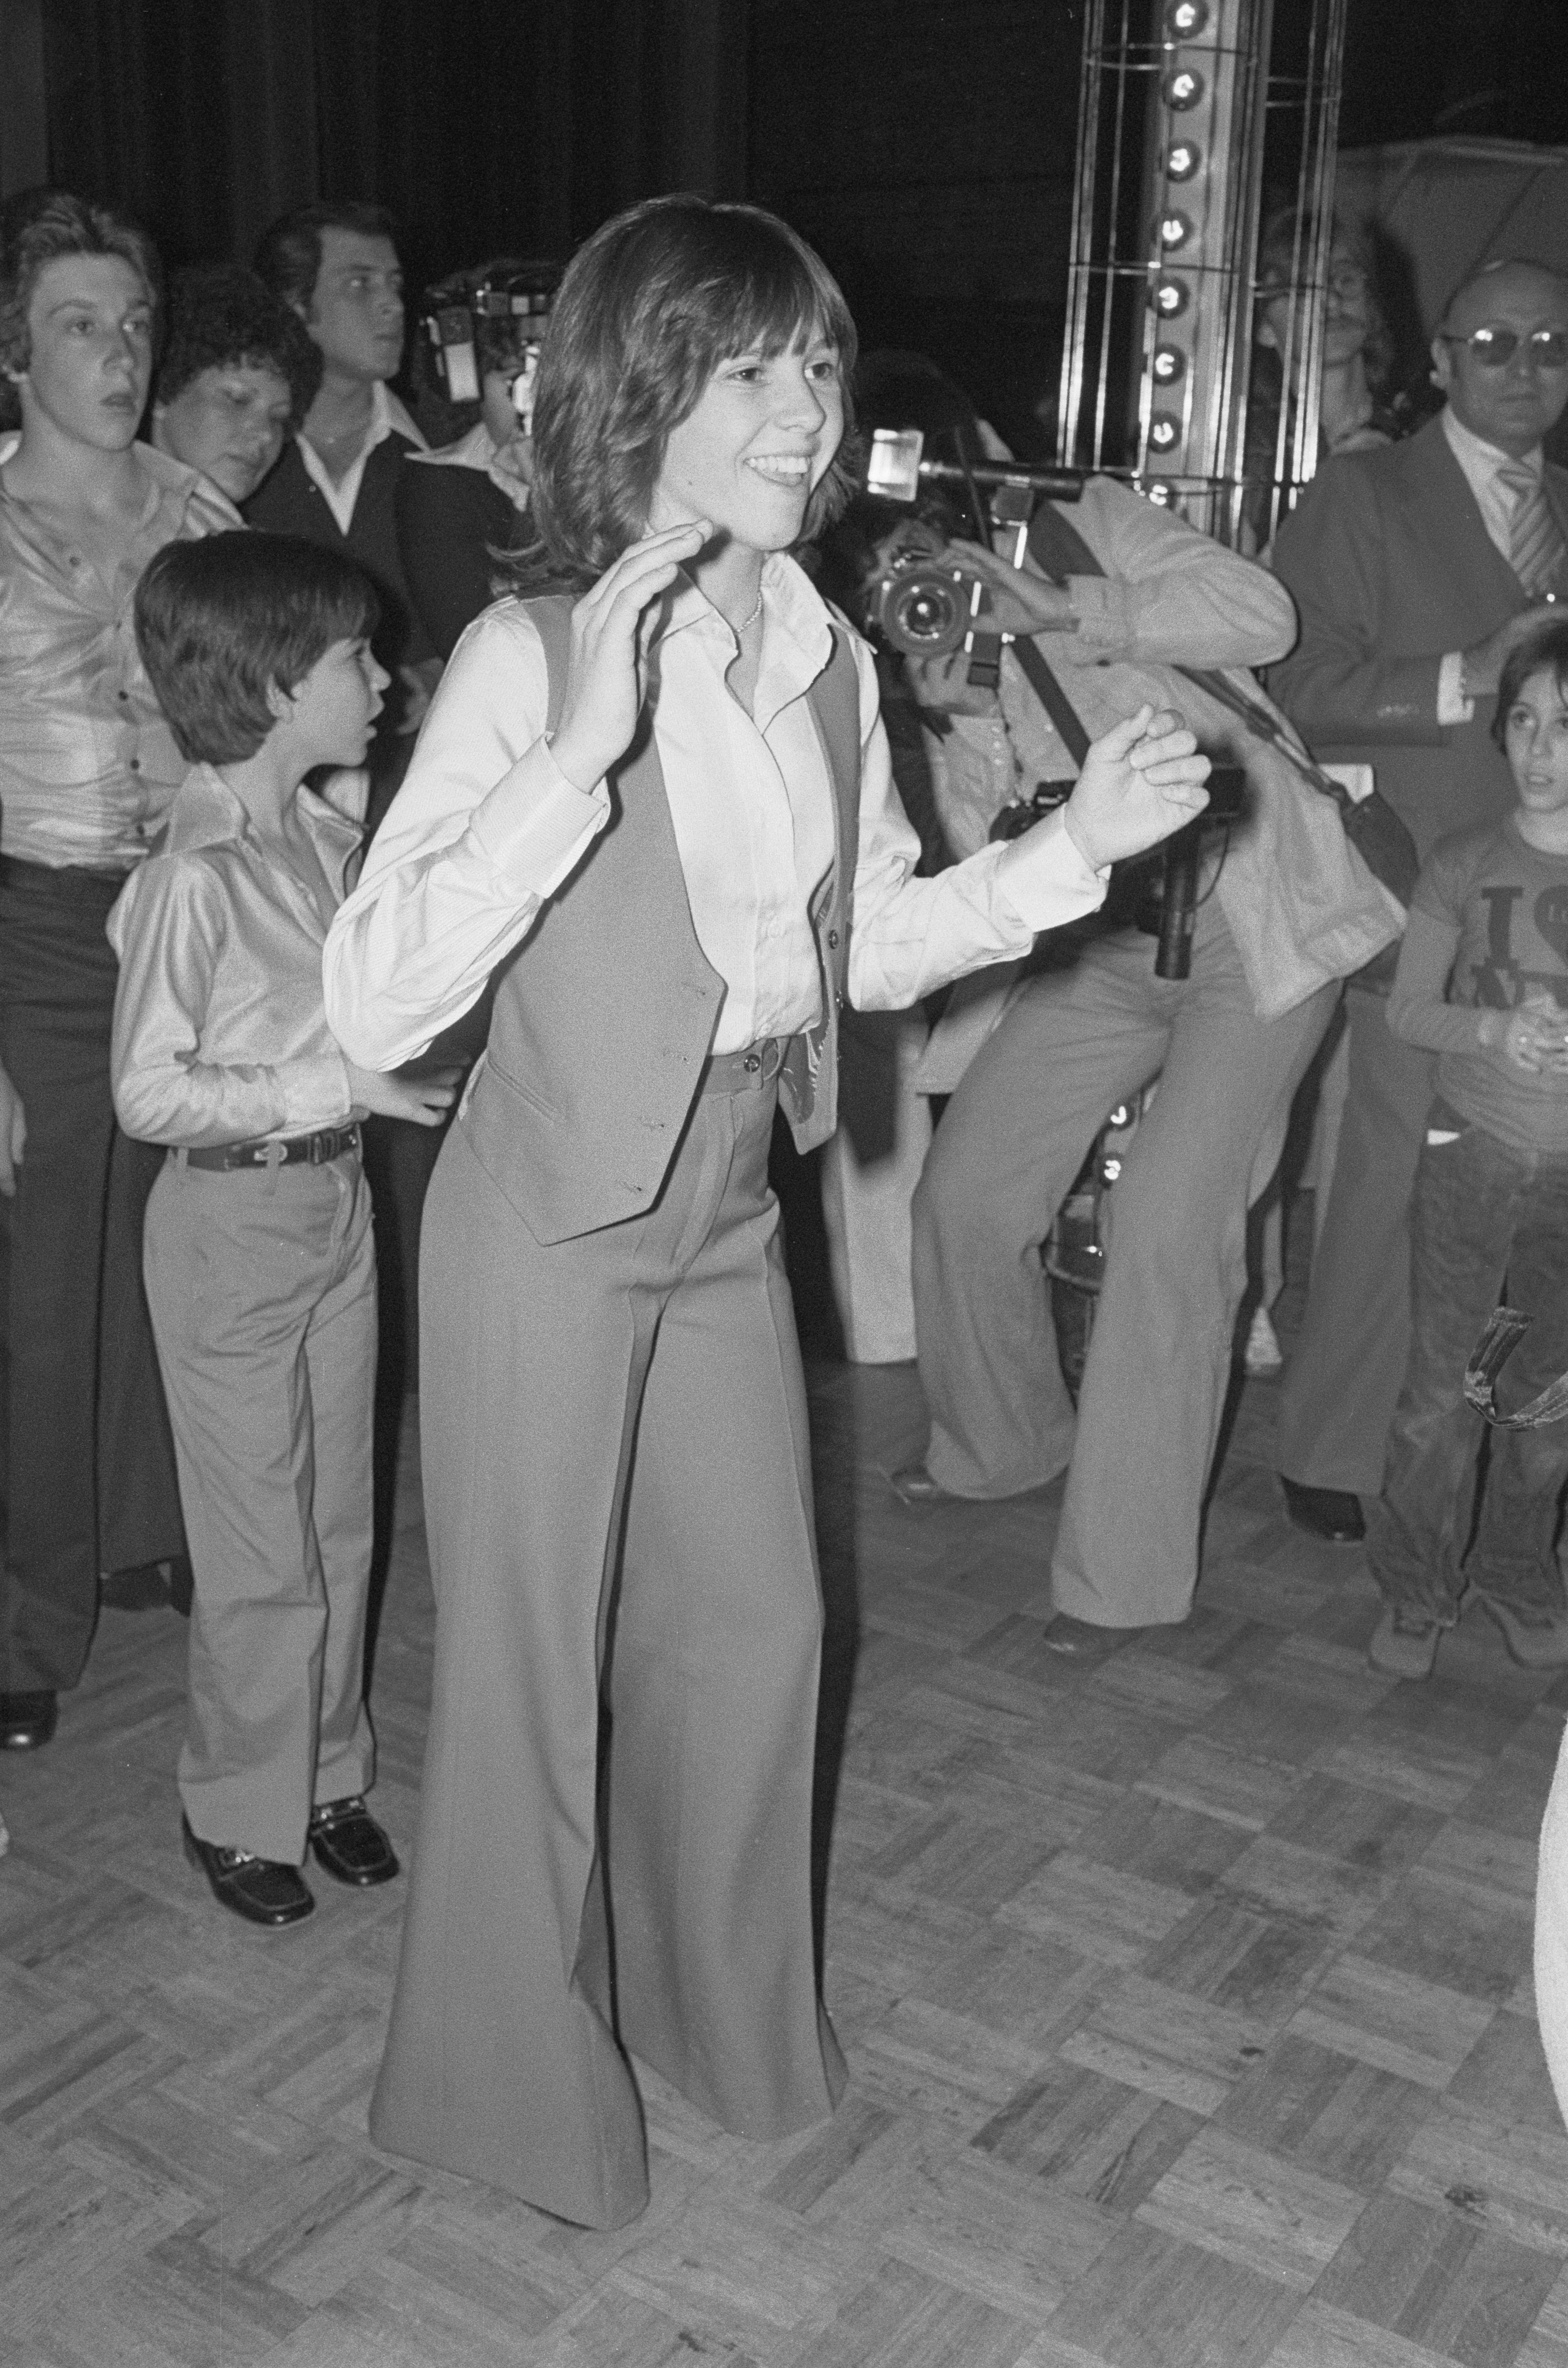
[[(1030, 978), (936, 1130), (914, 1196), (926, 1463), (957, 1497), (1014, 1497), (1071, 1461), (1052, 1598), (1078, 1620), (1144, 1627), (1191, 1608), (1253, 1163), (1334, 999), (1322, 987), (1260, 1021), (1210, 900), (1187, 980), (1156, 978), (1135, 933)], [(1106, 1115), (1156, 1073), (1111, 1196), (1073, 1418), (1040, 1243)]]

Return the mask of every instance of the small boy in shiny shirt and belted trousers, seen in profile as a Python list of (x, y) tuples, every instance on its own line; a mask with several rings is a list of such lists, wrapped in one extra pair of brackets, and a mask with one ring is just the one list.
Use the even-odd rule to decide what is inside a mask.
[(386, 673), (377, 599), (291, 535), (171, 542), (135, 632), (192, 772), (109, 914), (114, 1106), (168, 1144), (144, 1276), (194, 1568), (185, 1849), (258, 1925), (298, 1923), (310, 1847), (341, 1883), (398, 1859), (365, 1809), (377, 1276), (358, 1120), (433, 1125), (452, 1080), (355, 1068), (322, 942), (360, 824), (303, 786), (360, 765)]

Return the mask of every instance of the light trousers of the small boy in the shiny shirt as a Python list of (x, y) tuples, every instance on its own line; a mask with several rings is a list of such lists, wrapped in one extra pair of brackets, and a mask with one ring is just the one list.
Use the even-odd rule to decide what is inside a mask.
[(171, 1160), (147, 1203), (147, 1298), (194, 1575), (180, 1800), (204, 1842), (298, 1866), (310, 1809), (374, 1776), (377, 1265), (360, 1160)]

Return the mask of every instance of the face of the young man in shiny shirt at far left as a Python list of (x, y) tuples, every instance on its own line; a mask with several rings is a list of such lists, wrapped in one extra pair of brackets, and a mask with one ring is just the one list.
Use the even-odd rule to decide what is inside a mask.
[(28, 303), (28, 367), (17, 372), (24, 431), (123, 452), (147, 407), (152, 291), (123, 256), (57, 256)]

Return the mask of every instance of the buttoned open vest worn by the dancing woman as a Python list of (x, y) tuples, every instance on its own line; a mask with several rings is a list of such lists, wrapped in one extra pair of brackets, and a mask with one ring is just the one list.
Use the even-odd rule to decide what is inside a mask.
[[(571, 601), (528, 601), (550, 668), (550, 729), (566, 689)], [(860, 684), (834, 654), (808, 706), (834, 784), (834, 862), (810, 905), (822, 1018), (789, 1040), (779, 1101), (801, 1151), (836, 1125), (838, 1009), (860, 841)], [(495, 978), (490, 1040), (460, 1125), (535, 1241), (571, 1241), (654, 1205), (703, 1061), (722, 980), (687, 905), (651, 718), (609, 772), (611, 819)]]

